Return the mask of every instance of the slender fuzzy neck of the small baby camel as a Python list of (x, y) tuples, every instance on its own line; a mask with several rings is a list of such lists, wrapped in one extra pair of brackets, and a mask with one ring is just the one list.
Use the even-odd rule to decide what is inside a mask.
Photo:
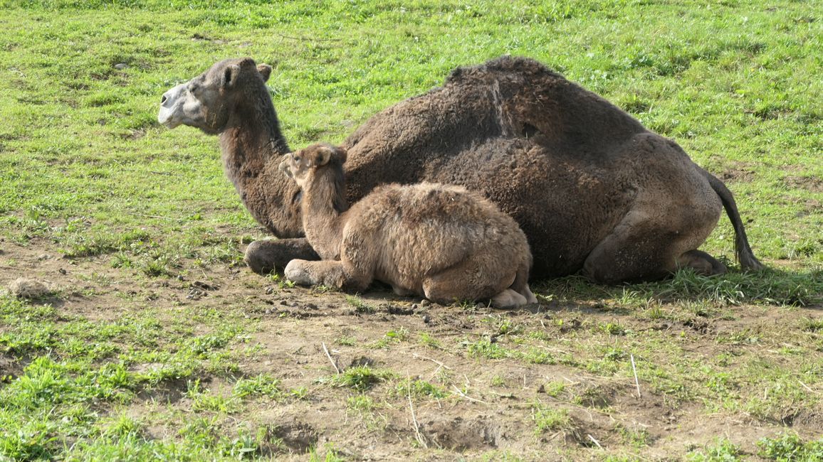
[(342, 165), (323, 166), (309, 180), (301, 205), (306, 239), (320, 258), (337, 260), (349, 208)]

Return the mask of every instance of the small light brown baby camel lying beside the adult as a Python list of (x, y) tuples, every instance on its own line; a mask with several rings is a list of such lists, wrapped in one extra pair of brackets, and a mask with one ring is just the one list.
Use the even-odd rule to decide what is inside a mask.
[(536, 303), (526, 236), (491, 201), (463, 187), (388, 184), (349, 208), (346, 150), (313, 145), (285, 156), (280, 170), (303, 192), (303, 229), (322, 261), (292, 260), (288, 280), (365, 290), (373, 280), (398, 295), (433, 302)]

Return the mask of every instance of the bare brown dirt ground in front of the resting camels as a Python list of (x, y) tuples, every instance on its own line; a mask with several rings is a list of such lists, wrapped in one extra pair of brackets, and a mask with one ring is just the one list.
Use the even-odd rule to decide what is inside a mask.
[[(677, 400), (648, 381), (635, 383), (626, 372), (631, 370), (628, 358), (611, 374), (582, 366), (593, 349), (604, 342), (608, 346), (609, 340), (589, 335), (593, 326), (617, 322), (632, 332), (632, 341), (642, 342), (649, 333), (677, 344), (690, 358), (713, 358), (732, 349), (770, 349), (769, 344), (729, 346), (716, 340), (728, 332), (789, 328), (797, 311), (740, 306), (731, 307), (732, 316), (723, 319), (678, 323), (631, 316), (619, 307), (585, 300), (542, 298), (539, 306), (509, 312), (444, 307), (387, 292), (366, 293), (352, 303), (344, 293), (281, 287), (244, 267), (193, 269), (183, 280), (148, 278), (113, 269), (109, 256), (67, 260), (51, 243), (21, 247), (5, 242), (0, 248), (0, 284), (7, 287), (20, 276), (48, 281), (59, 293), (49, 303), (67, 316), (106, 322), (146, 307), (166, 316), (192, 306), (244, 312), (251, 326), (245, 344), (258, 346), (253, 354), (237, 354), (239, 372), (246, 377), (269, 373), (284, 388), (305, 387), (306, 393), (300, 400), (250, 402), (239, 413), (223, 415), (222, 425), (227, 431), (238, 421), (267, 426), (281, 440), (281, 446), (271, 448), (278, 457), (291, 454), (304, 460), (309, 448), (333, 445), (337, 455), (352, 460), (601, 459), (614, 454), (679, 459), (712, 446), (718, 437), (753, 455), (758, 439), (786, 428), (803, 437), (823, 432), (823, 409), (796, 409), (782, 422), (739, 410), (710, 412), (700, 400)], [(823, 313), (817, 306), (805, 308), (803, 316)], [(519, 335), (502, 331), (501, 323), (514, 326)], [(0, 334), (7, 328), (0, 326)], [(472, 354), (468, 345), (484, 340), (509, 351), (544, 351), (544, 359), (553, 359)], [(639, 356), (641, 369), (667, 358)], [(332, 385), (338, 370), (365, 365), (388, 371), (391, 378), (363, 392)], [(0, 376), (13, 377), (22, 367), (0, 354)], [(409, 378), (434, 384), (444, 394), (403, 395), (398, 383)], [(227, 377), (202, 381), (218, 393), (230, 389)], [(139, 395), (131, 409), (151, 415), (170, 406), (184, 415), (193, 413), (185, 387), (162, 383)], [(353, 406), (357, 396), (368, 396), (370, 405)], [(566, 418), (539, 431), (538, 409), (553, 409)], [(174, 438), (175, 425), (179, 423), (158, 419), (146, 436)]]

